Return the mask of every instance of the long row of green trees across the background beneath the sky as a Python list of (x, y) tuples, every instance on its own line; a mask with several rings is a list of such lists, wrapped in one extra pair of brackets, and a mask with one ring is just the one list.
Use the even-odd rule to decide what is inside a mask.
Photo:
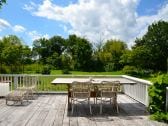
[[(23, 44), (15, 35), (0, 40), (0, 72), (21, 73), (24, 66), (41, 64), (43, 72), (62, 69), (77, 71), (118, 71), (141, 74), (166, 71), (168, 62), (168, 22), (158, 21), (148, 27), (132, 49), (121, 40), (107, 40), (93, 45), (86, 38), (69, 35), (40, 38), (33, 47)], [(41, 71), (36, 71), (41, 72)]]

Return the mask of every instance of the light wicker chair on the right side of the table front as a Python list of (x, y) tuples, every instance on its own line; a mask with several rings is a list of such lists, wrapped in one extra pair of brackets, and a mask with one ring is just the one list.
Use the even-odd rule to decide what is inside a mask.
[(118, 103), (117, 103), (117, 93), (120, 91), (120, 82), (103, 81), (99, 86), (99, 90), (100, 90), (100, 101), (101, 101), (100, 114), (102, 114), (102, 107), (104, 102), (109, 102), (110, 104), (113, 103), (118, 113), (119, 110), (118, 110)]

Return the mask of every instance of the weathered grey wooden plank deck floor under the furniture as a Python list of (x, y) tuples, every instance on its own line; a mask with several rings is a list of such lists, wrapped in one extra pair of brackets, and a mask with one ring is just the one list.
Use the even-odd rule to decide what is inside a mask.
[(7, 106), (0, 99), (0, 126), (166, 126), (148, 120), (142, 104), (126, 95), (118, 97), (120, 113), (110, 106), (93, 106), (93, 115), (85, 105), (75, 107), (73, 116), (67, 111), (67, 95), (40, 95), (24, 105)]

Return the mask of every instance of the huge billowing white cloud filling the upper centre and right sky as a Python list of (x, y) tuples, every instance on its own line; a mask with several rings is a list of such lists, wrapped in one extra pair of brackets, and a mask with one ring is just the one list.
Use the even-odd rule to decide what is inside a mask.
[(168, 20), (167, 3), (151, 16), (139, 16), (136, 12), (138, 3), (139, 0), (78, 0), (61, 7), (51, 0), (44, 0), (40, 5), (29, 6), (34, 16), (70, 25), (70, 29), (65, 29), (69, 33), (85, 36), (94, 42), (100, 37), (115, 38), (132, 45), (133, 40), (142, 36), (153, 21)]

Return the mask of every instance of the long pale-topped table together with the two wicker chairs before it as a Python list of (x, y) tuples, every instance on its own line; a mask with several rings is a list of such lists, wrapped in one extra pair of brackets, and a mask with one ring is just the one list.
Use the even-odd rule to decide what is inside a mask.
[[(120, 92), (121, 85), (134, 85), (135, 81), (125, 78), (56, 78), (52, 84), (67, 84), (68, 86), (68, 109), (73, 114), (74, 106), (77, 103), (87, 101), (92, 114), (92, 106), (100, 105), (100, 114), (104, 103), (114, 104), (117, 113), (119, 108), (117, 104), (117, 93)], [(94, 104), (91, 105), (91, 99)]]

